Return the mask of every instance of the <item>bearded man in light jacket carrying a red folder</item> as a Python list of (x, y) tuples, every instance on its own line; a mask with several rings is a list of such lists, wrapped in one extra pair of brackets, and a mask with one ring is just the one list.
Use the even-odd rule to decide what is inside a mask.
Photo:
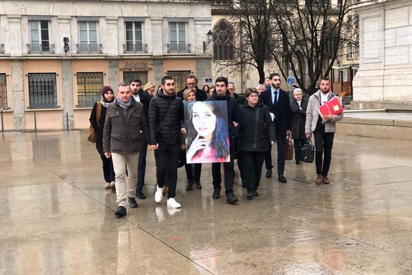
[[(306, 109), (306, 138), (314, 135), (316, 184), (330, 184), (328, 172), (332, 156), (336, 121), (343, 118), (341, 98), (330, 90), (330, 79), (322, 78), (320, 89), (309, 98)], [(323, 157), (324, 155), (324, 157)], [(323, 162), (322, 162), (323, 157)]]

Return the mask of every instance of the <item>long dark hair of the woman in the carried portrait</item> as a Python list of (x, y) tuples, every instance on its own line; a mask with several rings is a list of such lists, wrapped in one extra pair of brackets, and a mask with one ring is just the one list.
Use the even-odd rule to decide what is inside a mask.
[[(196, 104), (197, 102), (194, 102), (193, 104), (190, 104), (190, 107), (187, 109), (187, 113), (188, 113), (188, 125), (189, 129), (187, 129), (187, 148), (190, 147), (190, 145), (192, 145), (192, 142), (194, 141), (194, 139), (196, 138), (196, 136), (198, 135), (198, 132), (196, 131), (196, 129), (194, 129), (193, 126), (193, 121), (192, 121), (192, 117), (193, 117), (193, 106), (194, 104)], [(205, 102), (200, 102), (205, 104)], [(216, 160), (218, 159), (227, 159), (227, 157), (229, 157), (230, 155), (230, 151), (229, 151), (229, 144), (228, 144), (228, 140), (229, 140), (229, 134), (227, 131), (227, 124), (225, 122), (225, 120), (223, 120), (219, 113), (220, 110), (218, 108), (217, 105), (214, 104), (205, 104), (211, 111), (212, 113), (214, 113), (214, 115), (216, 115), (216, 126), (215, 129), (211, 135), (211, 141), (210, 141), (210, 148), (214, 149), (214, 158)], [(194, 156), (198, 155), (199, 153), (201, 153), (203, 149), (196, 151), (196, 153), (194, 154)]]

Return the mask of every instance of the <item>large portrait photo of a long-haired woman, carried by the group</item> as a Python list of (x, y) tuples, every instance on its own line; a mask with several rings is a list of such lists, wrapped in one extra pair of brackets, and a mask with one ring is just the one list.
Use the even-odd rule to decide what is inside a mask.
[(227, 102), (185, 102), (186, 163), (230, 162)]

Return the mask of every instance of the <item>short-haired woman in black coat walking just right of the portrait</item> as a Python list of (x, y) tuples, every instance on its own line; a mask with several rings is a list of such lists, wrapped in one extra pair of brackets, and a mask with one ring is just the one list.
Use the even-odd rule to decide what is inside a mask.
[(242, 176), (246, 181), (247, 199), (257, 197), (262, 165), (268, 144), (275, 143), (275, 124), (269, 108), (259, 99), (258, 91), (247, 89), (246, 101), (240, 106), (238, 151), (242, 158)]

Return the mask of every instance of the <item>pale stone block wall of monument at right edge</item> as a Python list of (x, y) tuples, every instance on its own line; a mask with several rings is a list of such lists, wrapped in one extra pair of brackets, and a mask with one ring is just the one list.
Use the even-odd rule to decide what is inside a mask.
[(361, 1), (358, 109), (412, 110), (412, 1)]

